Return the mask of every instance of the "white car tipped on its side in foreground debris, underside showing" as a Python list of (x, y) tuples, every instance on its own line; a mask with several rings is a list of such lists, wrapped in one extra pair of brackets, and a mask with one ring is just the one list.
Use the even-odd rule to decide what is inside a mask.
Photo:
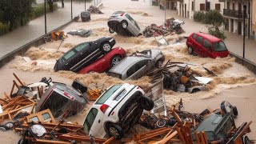
[(90, 107), (83, 124), (86, 134), (122, 138), (138, 122), (143, 110), (153, 109), (153, 100), (144, 94), (139, 86), (127, 83), (110, 86)]

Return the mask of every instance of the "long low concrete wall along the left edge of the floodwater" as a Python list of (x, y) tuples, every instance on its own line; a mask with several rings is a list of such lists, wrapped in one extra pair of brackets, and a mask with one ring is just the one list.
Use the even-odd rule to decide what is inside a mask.
[[(68, 26), (71, 22), (72, 21), (67, 22), (66, 24), (59, 26), (57, 29), (55, 29), (53, 31), (62, 30), (65, 26)], [(13, 60), (16, 55), (24, 55), (26, 53), (26, 50), (29, 50), (30, 47), (40, 46), (40, 45), (44, 44), (45, 43), (44, 37), (49, 36), (49, 35), (50, 35), (50, 32), (48, 34), (42, 35), (39, 38), (34, 39), (33, 41), (31, 41), (21, 47), (18, 47), (16, 50), (14, 50), (14, 51), (10, 52), (9, 54), (6, 54), (2, 58), (0, 58), (0, 68), (2, 66), (4, 66), (7, 62), (10, 62), (11, 60)]]

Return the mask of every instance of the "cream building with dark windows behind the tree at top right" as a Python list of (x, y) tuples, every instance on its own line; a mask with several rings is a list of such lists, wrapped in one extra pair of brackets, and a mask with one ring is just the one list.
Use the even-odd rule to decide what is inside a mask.
[(219, 10), (223, 14), (223, 0), (178, 0), (177, 13), (192, 19), (195, 11)]

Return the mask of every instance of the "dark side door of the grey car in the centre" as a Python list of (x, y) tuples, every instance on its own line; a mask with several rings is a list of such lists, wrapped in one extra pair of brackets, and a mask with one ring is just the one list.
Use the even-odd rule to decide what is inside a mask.
[(126, 72), (126, 79), (137, 79), (140, 78), (145, 72), (148, 65), (148, 59), (141, 60), (131, 66)]

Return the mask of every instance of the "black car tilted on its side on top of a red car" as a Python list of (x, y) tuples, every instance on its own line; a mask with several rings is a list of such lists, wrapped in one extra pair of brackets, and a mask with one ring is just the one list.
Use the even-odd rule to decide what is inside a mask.
[(71, 70), (77, 72), (85, 66), (110, 52), (115, 44), (114, 38), (103, 37), (93, 42), (83, 42), (74, 46), (57, 60), (54, 71)]

